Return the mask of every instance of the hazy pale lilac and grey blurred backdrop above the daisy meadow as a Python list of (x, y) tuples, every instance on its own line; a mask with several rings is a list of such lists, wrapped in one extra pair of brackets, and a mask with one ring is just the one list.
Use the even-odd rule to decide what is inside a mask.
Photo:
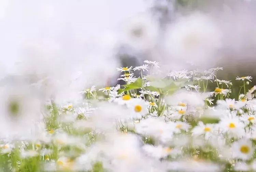
[[(237, 75), (255, 78), (255, 7), (254, 0), (1, 0), (1, 83), (51, 76), (60, 82), (48, 83), (57, 85), (50, 92), (61, 87), (62, 95), (115, 84), (116, 67), (144, 60), (163, 71), (222, 66), (219, 79), (234, 83)], [(70, 88), (77, 75), (81, 87)]]

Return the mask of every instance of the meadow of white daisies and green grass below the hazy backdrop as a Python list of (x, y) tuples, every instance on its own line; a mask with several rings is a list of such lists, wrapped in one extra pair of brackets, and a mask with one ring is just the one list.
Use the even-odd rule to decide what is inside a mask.
[[(1, 126), (1, 171), (255, 171), (256, 86), (248, 86), (251, 76), (237, 77), (231, 99), (220, 70), (163, 76), (160, 63), (145, 60), (117, 68), (124, 85), (92, 85), (79, 101), (47, 101), (40, 112), (26, 89), (26, 101), (13, 91), (1, 107), (9, 121)], [(25, 112), (41, 115), (32, 122)]]

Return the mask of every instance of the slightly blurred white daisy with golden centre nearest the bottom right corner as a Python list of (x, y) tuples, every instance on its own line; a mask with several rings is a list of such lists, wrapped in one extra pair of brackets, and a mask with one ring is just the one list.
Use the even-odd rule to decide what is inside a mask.
[(232, 144), (232, 153), (234, 158), (247, 160), (253, 155), (254, 147), (250, 140), (239, 140)]

